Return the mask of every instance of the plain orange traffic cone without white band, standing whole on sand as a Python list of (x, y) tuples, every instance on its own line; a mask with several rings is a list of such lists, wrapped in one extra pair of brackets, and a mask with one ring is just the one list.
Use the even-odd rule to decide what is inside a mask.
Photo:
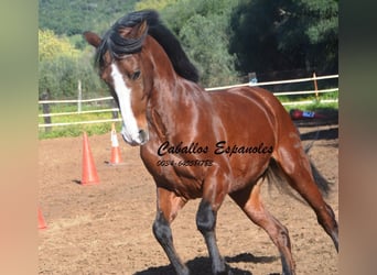
[(82, 185), (99, 184), (96, 165), (89, 147), (88, 135), (84, 132), (83, 139), (83, 176)]

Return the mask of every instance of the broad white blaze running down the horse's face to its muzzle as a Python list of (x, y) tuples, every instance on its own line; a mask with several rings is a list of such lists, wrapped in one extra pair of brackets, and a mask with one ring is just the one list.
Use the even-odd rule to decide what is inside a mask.
[(139, 128), (131, 108), (131, 89), (127, 87), (122, 75), (114, 63), (111, 64), (111, 77), (115, 91), (118, 96), (120, 113), (123, 120), (121, 134), (128, 143), (140, 144)]

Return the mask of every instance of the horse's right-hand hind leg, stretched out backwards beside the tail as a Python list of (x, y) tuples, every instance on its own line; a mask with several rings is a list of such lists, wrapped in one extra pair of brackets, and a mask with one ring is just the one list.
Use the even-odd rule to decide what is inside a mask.
[(273, 153), (290, 186), (297, 190), (315, 211), (319, 223), (332, 238), (338, 250), (338, 229), (333, 209), (324, 201), (314, 182), (310, 162), (301, 145), (298, 134), (289, 134), (290, 140), (280, 144)]

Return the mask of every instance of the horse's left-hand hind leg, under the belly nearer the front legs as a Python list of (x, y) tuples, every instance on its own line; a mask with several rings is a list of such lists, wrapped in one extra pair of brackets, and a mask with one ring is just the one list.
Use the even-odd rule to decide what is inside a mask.
[(288, 230), (266, 210), (260, 198), (261, 184), (262, 180), (260, 179), (255, 186), (229, 195), (250, 220), (261, 227), (277, 245), (281, 256), (282, 274), (295, 274)]

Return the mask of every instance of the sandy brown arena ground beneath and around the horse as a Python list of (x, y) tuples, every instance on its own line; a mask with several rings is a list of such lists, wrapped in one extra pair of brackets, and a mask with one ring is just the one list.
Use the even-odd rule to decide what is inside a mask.
[[(336, 121), (299, 122), (309, 155), (333, 183), (326, 201), (338, 217), (338, 135)], [(40, 141), (39, 205), (47, 229), (39, 230), (40, 274), (174, 274), (151, 227), (155, 188), (138, 147), (120, 141), (123, 165), (109, 166), (110, 134), (89, 136), (100, 184), (83, 186), (82, 138)], [(265, 205), (290, 231), (297, 274), (337, 274), (337, 253), (302, 202), (263, 188)], [(211, 262), (195, 213), (200, 200), (188, 202), (172, 226), (175, 246), (192, 274), (211, 274)], [(218, 246), (234, 274), (280, 274), (279, 253), (265, 231), (251, 223), (230, 200), (218, 213)]]

